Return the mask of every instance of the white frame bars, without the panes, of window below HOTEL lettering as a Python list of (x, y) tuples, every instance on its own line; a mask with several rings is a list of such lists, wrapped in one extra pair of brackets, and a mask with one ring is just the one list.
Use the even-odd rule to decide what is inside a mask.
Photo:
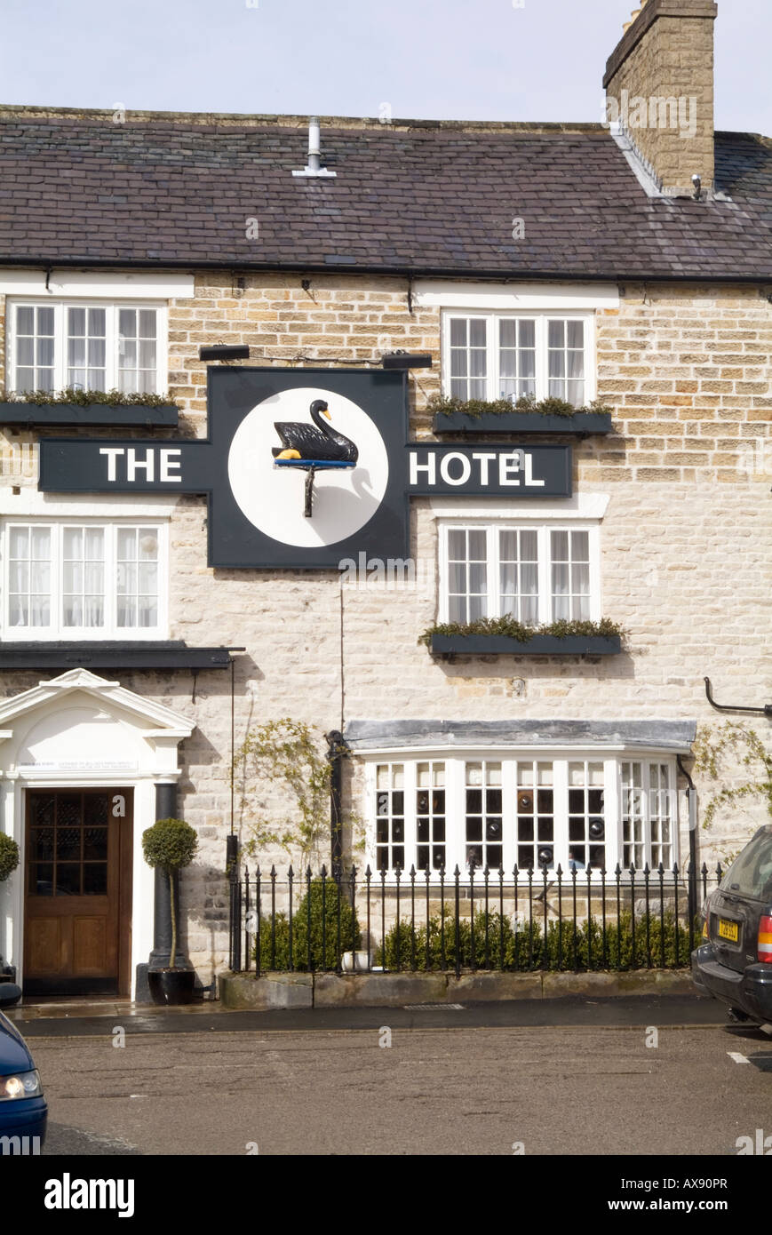
[(448, 534), (451, 531), (484, 530), (487, 534), (488, 551), (488, 616), (500, 618), (499, 611), (499, 532), (501, 531), (535, 531), (539, 537), (539, 622), (547, 624), (552, 618), (552, 577), (551, 577), (551, 545), (550, 534), (557, 531), (585, 531), (589, 543), (589, 621), (599, 621), (603, 616), (603, 598), (600, 594), (600, 522), (588, 519), (547, 519), (543, 522), (535, 522), (532, 519), (518, 519), (516, 516), (500, 519), (440, 519), (437, 522), (438, 534), (438, 620), (450, 621), (450, 558), (448, 558)]

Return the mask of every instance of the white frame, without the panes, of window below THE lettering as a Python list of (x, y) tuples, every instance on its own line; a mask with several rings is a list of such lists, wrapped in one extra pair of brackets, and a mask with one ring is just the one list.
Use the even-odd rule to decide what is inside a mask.
[[(11, 527), (49, 527), (51, 555), (51, 626), (11, 626), (9, 621)], [(62, 621), (62, 529), (104, 527), (105, 536), (105, 624), (103, 626), (64, 626)], [(158, 624), (156, 626), (119, 626), (116, 613), (116, 557), (120, 527), (142, 527), (158, 536)], [(35, 519), (27, 515), (6, 515), (0, 520), (0, 568), (2, 594), (0, 603), (0, 637), (2, 642), (47, 642), (68, 640), (115, 640), (120, 642), (168, 638), (169, 630), (169, 529), (168, 521), (147, 517), (125, 519)]]

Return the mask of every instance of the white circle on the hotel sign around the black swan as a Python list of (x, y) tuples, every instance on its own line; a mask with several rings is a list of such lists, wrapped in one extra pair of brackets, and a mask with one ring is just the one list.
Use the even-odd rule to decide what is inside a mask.
[[(315, 473), (313, 514), (306, 519), (308, 472), (275, 467), (271, 451), (282, 446), (274, 421), (313, 425), (315, 399), (326, 401), (332, 417), (326, 424), (351, 438), (359, 457), (352, 468)], [(353, 536), (373, 517), (387, 490), (389, 457), (376, 424), (358, 404), (332, 390), (296, 387), (247, 412), (233, 433), (227, 474), (240, 510), (254, 527), (282, 545), (314, 548)]]

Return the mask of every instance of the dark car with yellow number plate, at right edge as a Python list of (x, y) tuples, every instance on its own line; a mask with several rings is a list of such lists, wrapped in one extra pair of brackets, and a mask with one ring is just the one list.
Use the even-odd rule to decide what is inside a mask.
[(760, 827), (705, 900), (692, 976), (737, 1020), (772, 1023), (772, 824)]

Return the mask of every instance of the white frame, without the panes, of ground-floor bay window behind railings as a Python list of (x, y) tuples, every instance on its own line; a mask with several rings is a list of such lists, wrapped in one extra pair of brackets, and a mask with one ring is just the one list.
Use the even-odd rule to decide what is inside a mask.
[[(514, 819), (516, 814), (516, 777), (518, 767), (516, 764), (527, 763), (530, 761), (539, 763), (552, 763), (553, 776), (552, 776), (552, 790), (555, 793), (553, 808), (555, 808), (555, 830), (553, 830), (553, 867), (547, 871), (547, 882), (555, 882), (557, 879), (557, 865), (560, 863), (562, 868), (563, 879), (571, 882), (571, 868), (568, 863), (568, 790), (569, 776), (568, 764), (576, 762), (587, 763), (603, 763), (604, 766), (604, 819), (605, 819), (605, 869), (606, 869), (606, 885), (615, 883), (614, 871), (616, 863), (619, 862), (621, 867), (621, 881), (629, 882), (630, 874), (629, 868), (624, 867), (623, 863), (623, 803), (621, 803), (621, 778), (623, 778), (623, 763), (629, 762), (641, 762), (645, 764), (646, 776), (648, 776), (648, 766), (651, 763), (667, 764), (668, 768), (668, 792), (671, 794), (672, 803), (672, 862), (669, 863), (669, 871), (672, 871), (673, 863), (678, 863), (681, 871), (681, 857), (679, 857), (679, 800), (677, 792), (677, 767), (676, 756), (672, 753), (657, 753), (652, 751), (644, 752), (629, 752), (615, 750), (610, 752), (608, 748), (595, 748), (582, 747), (582, 748), (562, 748), (562, 750), (550, 750), (546, 747), (527, 747), (519, 750), (501, 750), (497, 747), (484, 747), (484, 748), (468, 748), (459, 751), (457, 747), (452, 750), (448, 748), (432, 748), (426, 751), (383, 751), (368, 752), (364, 763), (364, 810), (363, 818), (366, 820), (366, 862), (369, 865), (373, 873), (373, 879), (380, 879), (380, 871), (378, 869), (377, 857), (376, 857), (376, 819), (377, 819), (377, 806), (376, 806), (376, 783), (377, 783), (377, 769), (379, 764), (400, 764), (404, 768), (404, 793), (405, 793), (405, 869), (400, 873), (400, 879), (409, 878), (410, 866), (415, 865), (417, 857), (417, 810), (416, 810), (416, 790), (417, 790), (417, 764), (434, 762), (445, 763), (445, 834), (446, 834), (446, 866), (445, 866), (445, 878), (446, 884), (448, 881), (452, 882), (453, 869), (456, 865), (461, 871), (462, 881), (468, 881), (469, 872), (466, 865), (466, 766), (467, 763), (501, 763), (501, 810), (503, 810), (503, 867), (504, 867), (504, 881), (505, 883), (511, 882), (513, 871), (516, 860), (516, 841), (515, 841), (515, 827)], [(546, 844), (546, 842), (545, 842)], [(578, 844), (578, 842), (574, 842)], [(646, 844), (646, 860), (650, 863), (651, 855), (651, 829), (650, 829), (650, 813), (646, 814), (646, 830), (645, 830), (645, 844)], [(636, 887), (642, 887), (642, 866), (636, 867), (635, 871), (635, 883)], [(416, 867), (416, 881), (424, 879), (424, 871), (419, 871)], [(438, 879), (438, 872), (431, 871), (430, 876), (432, 882)], [(477, 868), (474, 872), (476, 882), (482, 882), (483, 871)], [(581, 885), (581, 881), (585, 878), (585, 871), (577, 869), (577, 883)], [(593, 869), (593, 881), (600, 878), (599, 871)], [(498, 882), (498, 871), (490, 872), (492, 882)], [(543, 874), (541, 868), (534, 868), (534, 885), (541, 884)], [(527, 883), (527, 873), (524, 869), (519, 869), (519, 881)], [(395, 873), (393, 869), (385, 872), (385, 883), (393, 884), (395, 882)], [(653, 887), (656, 882), (656, 876), (652, 874)]]

